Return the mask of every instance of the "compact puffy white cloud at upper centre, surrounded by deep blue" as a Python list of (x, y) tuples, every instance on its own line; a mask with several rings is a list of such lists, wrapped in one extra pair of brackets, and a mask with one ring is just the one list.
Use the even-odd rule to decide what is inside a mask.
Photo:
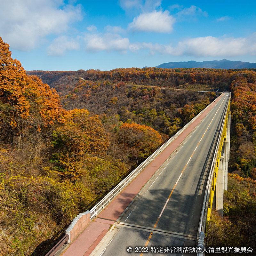
[(175, 19), (168, 11), (141, 13), (134, 18), (129, 28), (145, 32), (170, 33)]

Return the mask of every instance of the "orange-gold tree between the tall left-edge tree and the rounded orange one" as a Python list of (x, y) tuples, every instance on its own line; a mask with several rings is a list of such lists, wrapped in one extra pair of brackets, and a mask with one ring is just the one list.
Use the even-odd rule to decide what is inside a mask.
[(79, 180), (85, 174), (85, 159), (101, 156), (108, 148), (108, 134), (99, 116), (86, 109), (74, 109), (62, 116), (66, 122), (52, 132), (51, 162), (63, 178)]

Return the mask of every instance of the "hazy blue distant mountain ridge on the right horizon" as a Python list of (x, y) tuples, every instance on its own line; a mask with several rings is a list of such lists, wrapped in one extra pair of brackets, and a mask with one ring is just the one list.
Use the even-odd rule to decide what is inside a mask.
[(156, 68), (221, 68), (221, 69), (241, 69), (241, 68), (256, 68), (256, 63), (243, 62), (240, 60), (212, 60), (212, 61), (203, 61), (198, 62), (194, 60), (190, 61), (180, 61), (180, 62), (168, 62), (163, 63)]

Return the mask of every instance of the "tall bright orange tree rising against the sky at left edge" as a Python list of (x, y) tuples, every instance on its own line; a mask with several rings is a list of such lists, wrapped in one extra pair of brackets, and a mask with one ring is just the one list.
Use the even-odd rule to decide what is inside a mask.
[(58, 118), (59, 96), (36, 76), (27, 76), (0, 37), (0, 122), (2, 139), (15, 142), (28, 129), (40, 132)]

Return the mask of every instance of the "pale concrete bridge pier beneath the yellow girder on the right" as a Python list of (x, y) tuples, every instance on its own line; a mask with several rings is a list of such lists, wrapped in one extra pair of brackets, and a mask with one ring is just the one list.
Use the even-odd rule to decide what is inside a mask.
[(221, 149), (220, 164), (218, 168), (216, 188), (215, 188), (215, 208), (223, 216), (223, 196), (224, 190), (228, 190), (228, 162), (230, 150), (230, 114), (228, 114), (227, 136), (223, 141)]

